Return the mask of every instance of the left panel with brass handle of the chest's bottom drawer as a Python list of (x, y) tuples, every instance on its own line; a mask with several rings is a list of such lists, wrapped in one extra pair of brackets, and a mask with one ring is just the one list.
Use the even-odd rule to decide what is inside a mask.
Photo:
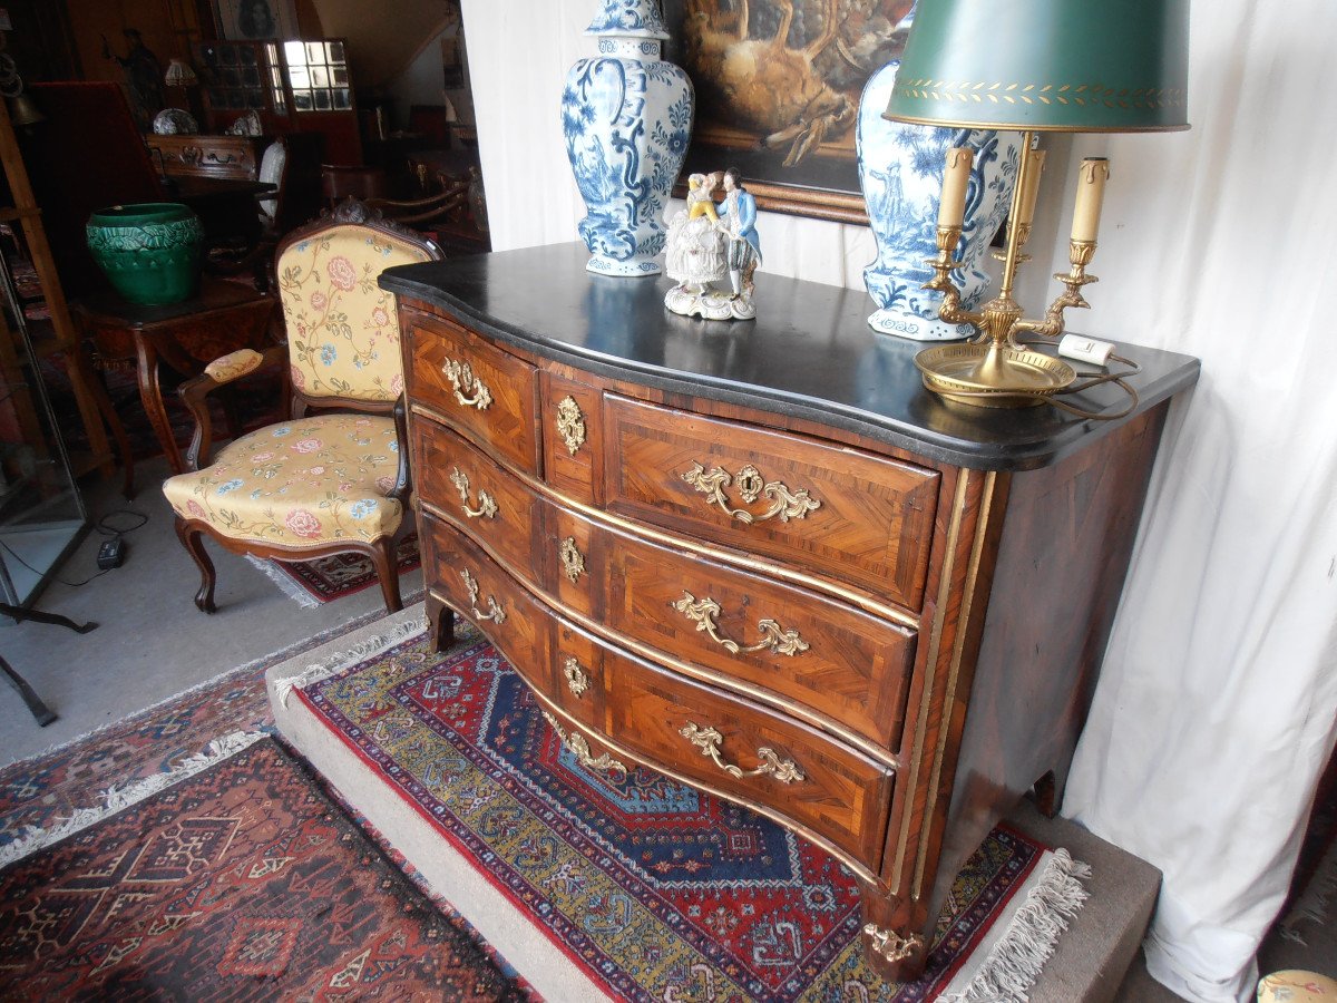
[(424, 515), (420, 535), (427, 587), (477, 626), (531, 686), (550, 693), (547, 611), (447, 523)]

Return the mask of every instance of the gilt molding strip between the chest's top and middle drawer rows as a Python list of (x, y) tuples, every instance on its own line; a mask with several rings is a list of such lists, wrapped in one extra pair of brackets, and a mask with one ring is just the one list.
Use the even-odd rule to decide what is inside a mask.
[[(440, 425), (445, 425), (451, 432), (456, 433), (461, 440), (464, 440), (472, 448), (479, 449), (480, 452), (487, 451), (488, 447), (485, 444), (475, 441), (468, 435), (467, 431), (461, 431), (457, 425), (449, 421), (440, 412), (432, 411), (431, 408), (425, 408), (421, 404), (416, 403), (412, 405), (410, 409), (417, 415), (432, 419)], [(636, 536), (643, 540), (659, 543), (664, 547), (673, 547), (674, 550), (685, 550), (690, 554), (703, 558), (710, 558), (711, 560), (718, 560), (723, 564), (729, 564), (730, 567), (737, 567), (743, 571), (754, 571), (758, 574), (763, 574), (767, 578), (777, 578), (786, 584), (808, 588), (824, 596), (849, 603), (850, 606), (862, 612), (878, 617), (884, 621), (890, 621), (898, 627), (904, 627), (915, 633), (919, 633), (920, 630), (921, 618), (915, 612), (909, 611), (904, 606), (892, 606), (889, 603), (882, 603), (872, 598), (870, 595), (858, 592), (854, 588), (844, 586), (838, 582), (833, 582), (830, 579), (817, 578), (816, 575), (809, 575), (804, 571), (794, 571), (793, 568), (786, 568), (782, 564), (775, 564), (762, 558), (757, 558), (754, 555), (742, 554), (741, 551), (729, 551), (721, 547), (714, 547), (709, 543), (687, 539), (685, 536), (674, 536), (673, 534), (668, 534), (647, 523), (636, 523), (616, 514), (604, 512), (599, 508), (587, 506), (583, 502), (578, 502), (575, 499), (567, 497), (566, 495), (558, 493), (551, 487), (543, 484), (541, 481), (535, 480), (531, 475), (525, 473), (524, 471), (517, 471), (516, 468), (511, 467), (509, 463), (504, 461), (505, 459), (507, 457), (501, 456), (492, 457), (493, 463), (501, 467), (507, 473), (512, 475), (516, 480), (519, 480), (532, 492), (541, 495), (543, 497), (566, 508), (567, 511), (584, 516), (596, 526), (620, 530), (628, 536)], [(928, 468), (928, 469), (935, 469), (935, 468)], [(422, 507), (436, 515), (443, 515), (443, 516), (449, 515), (448, 512), (441, 511), (440, 508), (432, 506), (431, 503), (422, 503)]]

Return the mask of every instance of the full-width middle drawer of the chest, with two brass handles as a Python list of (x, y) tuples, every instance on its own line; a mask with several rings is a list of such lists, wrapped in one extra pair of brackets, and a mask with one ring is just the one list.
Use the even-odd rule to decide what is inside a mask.
[[(431, 421), (413, 424), (424, 497), (529, 588), (718, 679), (765, 687), (881, 749), (900, 740), (916, 633), (551, 497)], [(449, 571), (443, 568), (441, 575)], [(659, 657), (663, 657), (662, 654)]]

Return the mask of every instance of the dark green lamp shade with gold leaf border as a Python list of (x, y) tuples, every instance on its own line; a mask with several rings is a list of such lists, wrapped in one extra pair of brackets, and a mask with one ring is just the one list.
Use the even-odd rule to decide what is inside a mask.
[(886, 118), (1017, 131), (1187, 128), (1189, 0), (920, 0)]

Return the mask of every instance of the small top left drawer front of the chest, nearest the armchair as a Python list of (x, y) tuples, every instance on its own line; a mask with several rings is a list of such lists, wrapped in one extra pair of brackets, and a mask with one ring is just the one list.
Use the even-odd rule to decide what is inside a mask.
[(463, 328), (401, 312), (408, 338), (409, 397), (444, 416), (489, 455), (539, 469), (535, 369)]

